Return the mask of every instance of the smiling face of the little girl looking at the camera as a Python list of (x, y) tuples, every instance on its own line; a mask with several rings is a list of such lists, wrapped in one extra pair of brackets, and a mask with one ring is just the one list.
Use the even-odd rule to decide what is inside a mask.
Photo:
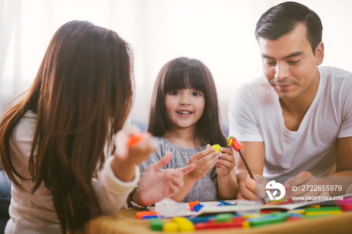
[(205, 98), (202, 91), (195, 89), (172, 90), (165, 95), (167, 115), (177, 128), (195, 128), (201, 119)]

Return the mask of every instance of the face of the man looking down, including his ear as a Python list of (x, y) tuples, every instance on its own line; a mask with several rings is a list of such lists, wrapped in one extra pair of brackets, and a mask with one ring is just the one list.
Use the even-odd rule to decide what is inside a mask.
[(279, 97), (305, 98), (314, 92), (319, 84), (318, 65), (323, 62), (324, 46), (320, 42), (313, 54), (305, 25), (297, 25), (276, 41), (259, 38), (258, 44), (263, 73)]

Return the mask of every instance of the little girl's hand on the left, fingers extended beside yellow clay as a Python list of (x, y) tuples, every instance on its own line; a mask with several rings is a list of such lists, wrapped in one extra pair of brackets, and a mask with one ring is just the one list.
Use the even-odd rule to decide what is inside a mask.
[(190, 158), (188, 164), (196, 164), (195, 169), (188, 174), (192, 179), (200, 179), (204, 177), (210, 169), (212, 169), (216, 163), (216, 160), (219, 158), (219, 152), (215, 151), (214, 147), (207, 145), (207, 148)]

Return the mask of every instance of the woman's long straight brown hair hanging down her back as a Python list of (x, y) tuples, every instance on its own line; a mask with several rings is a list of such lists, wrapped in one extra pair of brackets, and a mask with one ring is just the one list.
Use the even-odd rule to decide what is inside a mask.
[[(14, 186), (31, 179), (51, 191), (62, 231), (80, 228), (101, 213), (92, 178), (105, 160), (104, 146), (132, 105), (132, 55), (115, 32), (72, 21), (53, 36), (26, 96), (0, 123), (0, 157)], [(11, 134), (28, 110), (37, 113), (29, 169), (15, 170)], [(93, 213), (93, 214), (92, 214)]]

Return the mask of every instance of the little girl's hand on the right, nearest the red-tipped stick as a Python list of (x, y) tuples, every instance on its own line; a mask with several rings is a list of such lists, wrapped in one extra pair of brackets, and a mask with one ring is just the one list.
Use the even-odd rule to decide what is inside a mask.
[(227, 176), (234, 170), (236, 159), (233, 150), (230, 148), (221, 147), (220, 159), (216, 162), (216, 174), (218, 176)]

